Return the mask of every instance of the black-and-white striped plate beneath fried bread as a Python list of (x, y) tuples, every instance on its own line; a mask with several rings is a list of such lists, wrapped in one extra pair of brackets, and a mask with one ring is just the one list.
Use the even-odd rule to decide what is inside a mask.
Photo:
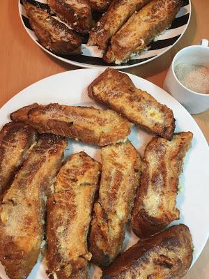
[[(42, 6), (42, 8), (45, 8), (47, 10), (49, 9), (47, 0), (30, 0), (30, 2), (34, 3), (35, 5), (38, 4), (39, 6)], [(109, 66), (111, 68), (123, 69), (138, 66), (147, 63), (148, 61), (152, 61), (153, 59), (170, 50), (171, 47), (173, 47), (173, 45), (175, 45), (178, 40), (180, 40), (189, 24), (191, 16), (191, 0), (183, 1), (183, 6), (180, 9), (179, 13), (176, 15), (175, 20), (173, 20), (171, 27), (169, 27), (169, 29), (167, 29), (167, 31), (165, 31), (157, 40), (151, 42), (150, 45), (148, 45), (148, 50), (144, 51), (140, 55), (133, 56), (130, 61), (127, 61), (120, 66), (115, 66), (114, 64), (109, 64), (103, 61), (102, 52), (98, 50), (98, 47), (88, 47), (85, 43), (86, 38), (84, 38), (84, 42), (82, 44), (82, 54), (75, 56), (59, 56), (50, 52), (49, 50), (45, 49), (45, 47), (42, 47), (42, 45), (40, 45), (35, 33), (32, 31), (29, 20), (24, 10), (24, 6), (22, 5), (22, 0), (19, 0), (19, 11), (22, 24), (24, 25), (26, 31), (29, 33), (29, 36), (31, 36), (34, 42), (37, 43), (37, 45), (39, 45), (42, 50), (45, 50), (45, 52), (51, 54), (57, 59), (84, 68)]]

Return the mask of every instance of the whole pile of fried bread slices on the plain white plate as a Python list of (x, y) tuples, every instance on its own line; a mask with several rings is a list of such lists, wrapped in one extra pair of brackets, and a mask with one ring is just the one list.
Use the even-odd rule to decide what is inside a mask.
[[(33, 103), (1, 130), (6, 273), (27, 278), (42, 252), (50, 279), (88, 279), (91, 262), (104, 279), (182, 278), (192, 236), (186, 225), (167, 226), (180, 216), (178, 177), (192, 133), (173, 133), (173, 112), (116, 70), (104, 70), (88, 95), (112, 110)], [(127, 140), (132, 123), (157, 134), (142, 160)], [(68, 137), (102, 146), (102, 165), (84, 151), (63, 160)], [(127, 225), (141, 239), (123, 252)]]

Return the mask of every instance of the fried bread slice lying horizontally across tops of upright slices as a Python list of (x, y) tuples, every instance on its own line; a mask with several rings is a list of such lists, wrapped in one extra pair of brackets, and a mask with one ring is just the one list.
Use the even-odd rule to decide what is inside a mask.
[[(13, 120), (22, 119), (22, 110), (25, 113), (26, 107), (14, 112)], [(132, 126), (112, 110), (59, 104), (38, 105), (29, 110), (27, 121), (38, 133), (52, 133), (100, 146), (125, 141)]]

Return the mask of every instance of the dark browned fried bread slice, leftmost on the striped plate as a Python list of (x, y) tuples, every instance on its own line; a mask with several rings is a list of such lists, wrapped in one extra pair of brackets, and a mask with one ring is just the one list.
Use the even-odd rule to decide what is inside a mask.
[(59, 55), (80, 54), (82, 39), (62, 22), (49, 15), (42, 8), (22, 0), (31, 27), (40, 44)]

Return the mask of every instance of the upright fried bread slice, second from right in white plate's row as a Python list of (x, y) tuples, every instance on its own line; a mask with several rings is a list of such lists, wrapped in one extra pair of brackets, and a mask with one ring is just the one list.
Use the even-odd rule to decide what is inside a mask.
[(90, 230), (90, 252), (98, 266), (109, 266), (121, 251), (139, 186), (141, 159), (130, 142), (102, 148), (102, 176)]

